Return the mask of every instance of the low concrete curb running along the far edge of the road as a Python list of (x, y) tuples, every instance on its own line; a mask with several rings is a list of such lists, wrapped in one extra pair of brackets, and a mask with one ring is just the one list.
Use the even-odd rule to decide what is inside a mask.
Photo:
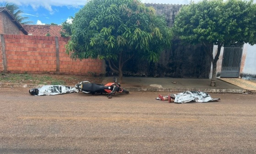
[[(36, 88), (43, 85), (33, 84), (0, 84), (0, 88)], [(70, 85), (67, 85), (70, 86)], [(73, 86), (73, 85), (72, 85)], [(204, 91), (211, 93), (256, 93), (256, 91), (250, 91), (245, 89), (217, 89), (217, 88), (139, 88), (139, 87), (125, 87), (125, 90), (129, 91), (159, 91), (159, 92), (180, 92), (180, 91)]]

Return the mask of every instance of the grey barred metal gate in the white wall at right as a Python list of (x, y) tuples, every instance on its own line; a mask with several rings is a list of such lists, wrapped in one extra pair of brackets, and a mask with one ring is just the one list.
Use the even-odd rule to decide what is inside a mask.
[(221, 77), (239, 76), (243, 46), (243, 44), (233, 43), (224, 47)]

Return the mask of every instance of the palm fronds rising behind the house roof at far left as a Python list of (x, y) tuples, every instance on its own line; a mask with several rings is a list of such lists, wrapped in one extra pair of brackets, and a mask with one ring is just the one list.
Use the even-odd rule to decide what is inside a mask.
[(10, 13), (15, 17), (15, 19), (20, 24), (31, 24), (31, 23), (33, 23), (33, 21), (26, 21), (29, 18), (22, 16), (23, 11), (21, 11), (16, 4), (11, 4), (11, 3), (5, 2), (5, 5), (1, 5), (1, 7), (6, 7), (6, 9), (8, 11), (10, 11)]

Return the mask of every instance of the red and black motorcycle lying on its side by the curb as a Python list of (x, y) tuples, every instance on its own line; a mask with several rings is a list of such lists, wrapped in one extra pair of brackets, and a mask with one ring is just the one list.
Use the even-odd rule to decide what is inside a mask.
[(117, 79), (114, 78), (114, 82), (107, 83), (106, 85), (100, 85), (95, 83), (90, 83), (89, 81), (82, 81), (75, 85), (75, 88), (86, 94), (103, 94), (108, 93), (108, 98), (112, 98), (116, 92), (129, 94), (128, 90), (121, 87), (120, 83), (117, 83)]

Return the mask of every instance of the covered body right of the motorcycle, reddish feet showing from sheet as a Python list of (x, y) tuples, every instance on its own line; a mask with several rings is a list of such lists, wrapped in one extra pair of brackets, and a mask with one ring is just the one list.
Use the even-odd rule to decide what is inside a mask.
[[(187, 103), (190, 101), (195, 102), (208, 102), (208, 101), (219, 101), (219, 98), (212, 98), (209, 94), (202, 92), (202, 91), (185, 91), (179, 94), (170, 94), (171, 98), (174, 99), (174, 103)], [(167, 96), (164, 96), (168, 98)], [(156, 98), (157, 100), (161, 100), (159, 97)]]

